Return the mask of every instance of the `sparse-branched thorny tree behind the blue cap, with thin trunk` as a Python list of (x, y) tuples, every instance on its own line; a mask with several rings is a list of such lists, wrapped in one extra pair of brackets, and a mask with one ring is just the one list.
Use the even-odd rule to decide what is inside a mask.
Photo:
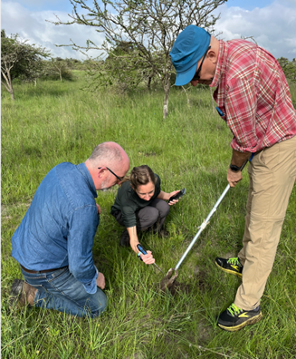
[[(76, 50), (96, 49), (107, 53), (116, 61), (118, 73), (138, 72), (147, 78), (157, 76), (165, 92), (163, 116), (168, 113), (168, 95), (171, 86), (170, 77), (175, 72), (169, 53), (177, 35), (189, 24), (203, 26), (210, 30), (219, 15), (212, 12), (227, 0), (70, 0), (73, 6), (71, 20), (62, 22), (57, 18), (53, 24), (81, 24), (93, 27), (105, 34), (102, 45), (88, 40), (86, 46), (72, 42)], [(132, 51), (118, 53), (122, 44)], [(65, 46), (65, 45), (62, 45)], [(107, 63), (108, 64), (108, 63)], [(111, 73), (111, 71), (109, 71)], [(113, 75), (114, 76), (114, 75)], [(138, 82), (138, 77), (136, 77)]]

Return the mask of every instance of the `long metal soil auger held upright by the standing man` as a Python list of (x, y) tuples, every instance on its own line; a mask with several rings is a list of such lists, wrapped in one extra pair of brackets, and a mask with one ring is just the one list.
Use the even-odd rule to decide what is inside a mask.
[[(252, 159), (252, 158), (251, 158)], [(250, 159), (250, 160), (251, 160)], [(245, 164), (247, 163), (248, 160), (246, 160), (243, 163), (243, 166), (241, 167), (241, 170), (243, 170)], [(228, 192), (228, 189), (230, 189), (230, 185), (228, 184), (227, 187), (224, 189), (224, 192), (222, 193), (222, 195), (220, 196), (220, 198), (215, 202), (215, 206), (213, 207), (213, 209), (210, 211), (210, 213), (208, 214), (208, 216), (205, 218), (204, 222), (201, 224), (201, 226), (199, 226), (198, 232), (196, 233), (195, 238), (192, 239), (191, 243), (189, 244), (189, 246), (187, 247), (184, 255), (180, 258), (180, 260), (177, 262), (177, 266), (175, 268), (170, 268), (167, 272), (167, 276), (164, 277), (160, 283), (160, 290), (165, 291), (165, 289), (169, 289), (171, 288), (174, 283), (175, 280), (177, 278), (178, 275), (178, 268), (181, 266), (183, 260), (186, 258), (186, 255), (188, 254), (189, 250), (194, 246), (194, 244), (196, 243), (197, 238), (200, 236), (200, 234), (202, 233), (202, 231), (205, 229), (205, 227), (208, 225), (209, 220), (212, 218), (212, 216), (215, 213), (215, 210), (218, 208), (219, 204), (222, 202), (222, 199), (224, 199), (225, 194)], [(173, 275), (173, 272), (175, 271), (175, 274)]]

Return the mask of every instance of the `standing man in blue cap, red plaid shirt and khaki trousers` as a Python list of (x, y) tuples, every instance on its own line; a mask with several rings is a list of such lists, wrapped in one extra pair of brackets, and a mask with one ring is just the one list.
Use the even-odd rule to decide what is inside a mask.
[(242, 179), (243, 162), (253, 154), (243, 248), (238, 257), (215, 259), (219, 268), (242, 277), (234, 303), (218, 318), (221, 328), (237, 331), (263, 316), (260, 299), (296, 178), (296, 113), (281, 66), (256, 44), (218, 41), (189, 25), (170, 55), (176, 85), (216, 87), (215, 102), (234, 134), (227, 172), (231, 187)]

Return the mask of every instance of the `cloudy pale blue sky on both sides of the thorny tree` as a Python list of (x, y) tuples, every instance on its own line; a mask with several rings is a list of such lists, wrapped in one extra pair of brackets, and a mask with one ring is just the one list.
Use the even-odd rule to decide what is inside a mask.
[[(91, 0), (89, 0), (91, 3)], [(1, 2), (1, 28), (6, 34), (19, 34), (31, 44), (40, 44), (53, 56), (85, 58), (71, 47), (55, 44), (84, 45), (87, 39), (101, 44), (103, 37), (93, 28), (77, 24), (55, 26), (46, 20), (58, 15), (62, 20), (71, 14), (69, 0), (19, 0)], [(241, 36), (253, 36), (274, 57), (296, 57), (296, 0), (228, 0), (218, 7), (221, 18), (215, 31), (220, 38), (231, 40)], [(92, 56), (98, 54), (91, 53)]]

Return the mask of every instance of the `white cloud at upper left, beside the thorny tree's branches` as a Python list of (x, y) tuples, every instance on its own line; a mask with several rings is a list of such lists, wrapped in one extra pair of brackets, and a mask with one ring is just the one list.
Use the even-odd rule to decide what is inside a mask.
[[(45, 20), (56, 20), (53, 11), (31, 12), (19, 3), (2, 3), (2, 24), (6, 34), (19, 34), (22, 39), (28, 39), (30, 44), (39, 44), (51, 51), (53, 57), (73, 57), (85, 59), (85, 56), (72, 50), (72, 47), (56, 47), (55, 44), (75, 44), (85, 46), (86, 40), (91, 39), (95, 44), (100, 45), (104, 39), (102, 34), (98, 34), (93, 28), (87, 26), (54, 25)], [(54, 12), (62, 21), (70, 18), (67, 13)], [(98, 56), (99, 51), (88, 52), (90, 56)]]

